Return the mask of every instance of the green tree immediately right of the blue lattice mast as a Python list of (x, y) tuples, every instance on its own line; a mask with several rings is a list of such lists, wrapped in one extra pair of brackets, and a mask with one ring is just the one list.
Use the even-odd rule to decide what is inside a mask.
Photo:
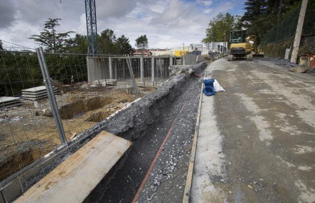
[(106, 29), (100, 32), (97, 36), (98, 53), (99, 54), (114, 54), (117, 52), (115, 47), (116, 35), (113, 30)]

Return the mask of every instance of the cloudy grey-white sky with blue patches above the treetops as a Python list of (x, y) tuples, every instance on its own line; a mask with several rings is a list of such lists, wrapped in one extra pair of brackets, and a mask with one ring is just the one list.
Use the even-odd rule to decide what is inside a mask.
[[(219, 12), (243, 14), (244, 0), (96, 0), (97, 31), (114, 30), (134, 46), (146, 34), (149, 48), (200, 43), (209, 20)], [(58, 32), (86, 35), (84, 0), (1, 0), (0, 39), (34, 48), (27, 39), (47, 18), (63, 19)], [(4, 42), (4, 46), (15, 46)], [(8, 48), (8, 47), (6, 47)]]

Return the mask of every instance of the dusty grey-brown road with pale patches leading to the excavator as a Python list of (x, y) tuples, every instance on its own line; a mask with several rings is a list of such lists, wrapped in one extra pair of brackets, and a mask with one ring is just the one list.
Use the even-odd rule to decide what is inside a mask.
[(191, 202), (315, 201), (315, 77), (219, 59), (202, 96)]

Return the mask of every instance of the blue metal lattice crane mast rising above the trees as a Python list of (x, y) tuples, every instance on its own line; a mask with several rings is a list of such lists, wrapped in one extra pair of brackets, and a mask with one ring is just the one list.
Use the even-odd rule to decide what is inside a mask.
[(98, 54), (95, 0), (85, 0), (88, 55)]

